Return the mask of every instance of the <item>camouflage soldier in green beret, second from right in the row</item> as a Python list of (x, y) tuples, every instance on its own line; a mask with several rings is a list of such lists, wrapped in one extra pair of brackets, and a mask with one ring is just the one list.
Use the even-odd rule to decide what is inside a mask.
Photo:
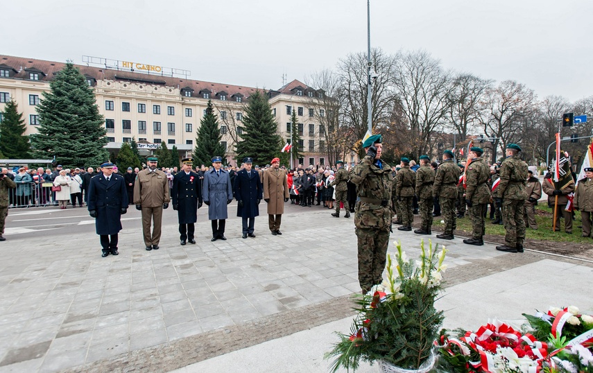
[(488, 178), (490, 177), (490, 168), (481, 158), (484, 151), (481, 148), (470, 148), (470, 154), (467, 160), (471, 161), (465, 172), (465, 204), (470, 207), (470, 216), (472, 216), (472, 238), (463, 240), (468, 245), (481, 246), (484, 244), (483, 236), (485, 232), (484, 216), (490, 202), (490, 188), (488, 187)]

